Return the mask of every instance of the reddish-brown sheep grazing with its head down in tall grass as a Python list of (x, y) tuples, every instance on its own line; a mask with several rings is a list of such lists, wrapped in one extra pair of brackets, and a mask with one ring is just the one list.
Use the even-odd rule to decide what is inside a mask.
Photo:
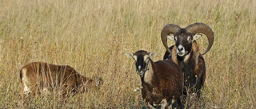
[(20, 70), (22, 82), (22, 96), (34, 95), (36, 92), (49, 95), (58, 91), (58, 95), (67, 97), (78, 92), (85, 92), (100, 88), (103, 80), (82, 76), (69, 65), (47, 64), (33, 62), (26, 64)]

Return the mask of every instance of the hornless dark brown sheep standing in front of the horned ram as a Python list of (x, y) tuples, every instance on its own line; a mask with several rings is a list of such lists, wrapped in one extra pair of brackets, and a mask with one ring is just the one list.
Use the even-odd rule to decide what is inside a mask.
[[(142, 98), (148, 107), (181, 107), (183, 74), (178, 65), (170, 60), (153, 62), (150, 58), (157, 53), (138, 51), (126, 53), (135, 60), (138, 75), (142, 79)], [(174, 102), (172, 103), (172, 100)]]

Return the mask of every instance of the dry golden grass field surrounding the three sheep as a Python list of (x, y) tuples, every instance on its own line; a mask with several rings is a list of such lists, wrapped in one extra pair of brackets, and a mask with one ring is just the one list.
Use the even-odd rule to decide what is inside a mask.
[[(255, 108), (255, 10), (255, 0), (1, 0), (0, 108), (142, 107), (134, 60), (124, 53), (154, 51), (153, 60), (162, 60), (164, 25), (195, 22), (215, 35), (204, 55), (205, 108)], [(206, 37), (198, 43), (203, 52)], [(65, 104), (55, 95), (23, 103), (19, 70), (33, 61), (69, 64), (84, 76), (101, 76), (104, 85)]]

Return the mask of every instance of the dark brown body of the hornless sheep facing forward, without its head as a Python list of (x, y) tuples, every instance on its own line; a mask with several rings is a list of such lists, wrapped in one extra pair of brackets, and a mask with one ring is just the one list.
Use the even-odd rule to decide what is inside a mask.
[(142, 98), (151, 105), (161, 103), (162, 99), (180, 99), (183, 75), (178, 65), (170, 60), (155, 63), (150, 60), (150, 64), (152, 64), (154, 76), (152, 84), (142, 83)]

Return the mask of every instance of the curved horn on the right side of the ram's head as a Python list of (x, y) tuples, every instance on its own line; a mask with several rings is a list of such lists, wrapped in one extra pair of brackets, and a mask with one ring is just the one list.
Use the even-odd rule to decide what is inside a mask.
[(210, 29), (208, 25), (204, 23), (194, 23), (194, 24), (188, 25), (186, 27), (186, 30), (189, 33), (192, 33), (192, 35), (196, 33), (203, 33), (208, 38), (209, 45), (206, 49), (206, 52), (203, 53), (202, 55), (206, 54), (210, 50), (211, 46), (214, 44), (214, 32), (212, 29)]

